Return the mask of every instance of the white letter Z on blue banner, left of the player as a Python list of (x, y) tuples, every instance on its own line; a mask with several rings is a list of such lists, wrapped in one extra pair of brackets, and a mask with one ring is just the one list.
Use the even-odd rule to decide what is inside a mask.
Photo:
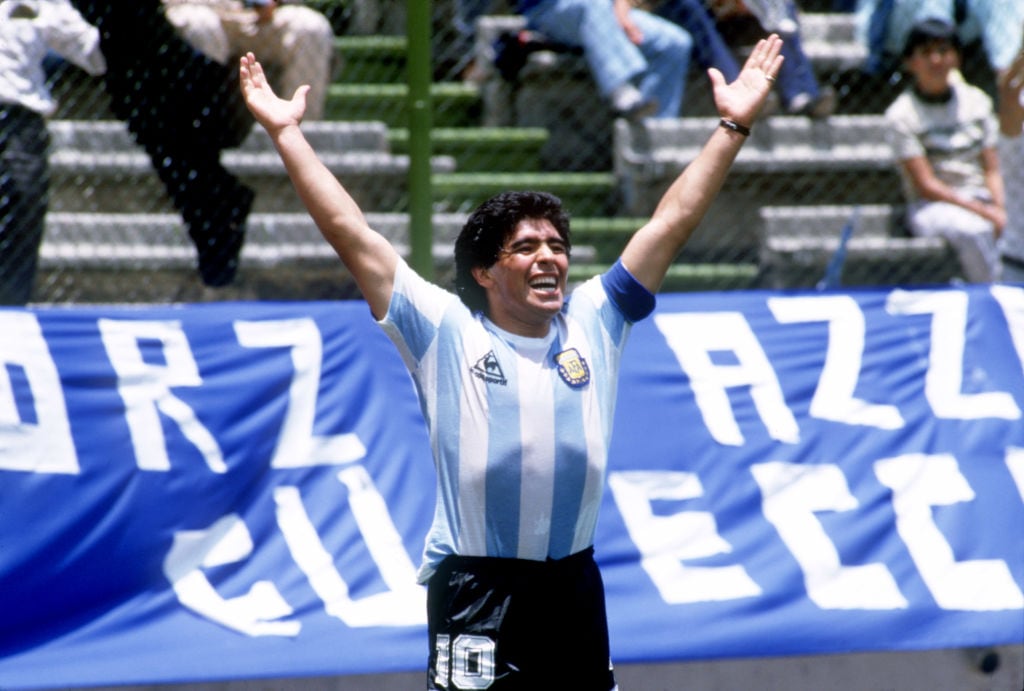
[(291, 348), (295, 374), (289, 388), (288, 413), (273, 451), (272, 468), (338, 465), (367, 455), (355, 434), (313, 435), (316, 394), (324, 344), (316, 322), (309, 318), (238, 321), (234, 333), (246, 348)]

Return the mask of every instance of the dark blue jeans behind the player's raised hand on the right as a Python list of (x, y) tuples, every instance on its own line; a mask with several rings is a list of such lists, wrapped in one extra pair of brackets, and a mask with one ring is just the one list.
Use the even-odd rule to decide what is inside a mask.
[[(787, 10), (790, 17), (796, 20), (796, 6), (788, 3)], [(717, 68), (729, 82), (739, 76), (739, 63), (702, 0), (665, 0), (656, 11), (693, 37), (693, 57), (701, 69)], [(818, 80), (810, 58), (804, 52), (800, 33), (782, 38), (782, 55), (785, 60), (778, 73), (778, 91), (782, 104), (788, 106), (802, 93), (817, 98), (820, 93)]]

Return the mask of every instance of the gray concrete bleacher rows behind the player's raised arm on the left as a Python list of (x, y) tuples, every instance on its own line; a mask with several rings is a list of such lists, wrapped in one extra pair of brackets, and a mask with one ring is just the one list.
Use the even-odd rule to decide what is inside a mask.
[[(58, 120), (49, 126), (51, 193), (40, 254), (41, 300), (46, 301), (48, 293), (59, 294), (73, 274), (79, 276), (80, 300), (123, 300), (125, 287), (115, 285), (117, 276), (131, 283), (132, 300), (201, 297), (201, 289), (189, 287), (198, 280), (195, 248), (186, 227), (150, 158), (125, 125), (109, 120)], [(303, 130), (327, 166), (345, 180), (366, 209), (400, 204), (408, 189), (409, 157), (390, 152), (382, 123), (315, 122), (304, 124)], [(216, 295), (222, 299), (328, 297), (344, 292), (329, 287), (345, 283), (345, 276), (299, 202), (266, 133), (254, 128), (239, 148), (225, 150), (221, 161), (256, 190), (256, 200), (242, 255), (242, 277), (249, 279)], [(451, 172), (454, 167), (451, 157), (432, 159), (434, 172)], [(369, 217), (408, 256), (408, 215), (378, 212)], [(451, 239), (461, 223), (456, 215), (435, 219), (439, 236), (435, 259), (441, 265), (451, 263)], [(284, 270), (298, 266), (302, 271)], [(145, 280), (135, 277), (140, 270), (145, 270)], [(92, 280), (90, 275), (108, 278)]]

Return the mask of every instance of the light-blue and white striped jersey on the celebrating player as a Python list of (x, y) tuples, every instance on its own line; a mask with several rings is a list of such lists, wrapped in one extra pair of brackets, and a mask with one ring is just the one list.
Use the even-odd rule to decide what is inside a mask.
[(617, 299), (614, 282), (592, 278), (547, 337), (524, 338), (399, 262), (381, 326), (413, 375), (437, 470), (422, 582), (450, 554), (545, 560), (593, 544), (632, 323), (617, 305), (634, 320), (653, 308), (616, 269)]

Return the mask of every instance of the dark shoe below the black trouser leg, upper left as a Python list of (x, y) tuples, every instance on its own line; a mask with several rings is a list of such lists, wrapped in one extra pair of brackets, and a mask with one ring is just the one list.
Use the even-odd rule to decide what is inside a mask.
[(252, 189), (242, 187), (238, 201), (227, 210), (226, 219), (221, 221), (222, 214), (215, 214), (200, 222), (198, 227), (188, 228), (188, 234), (196, 244), (198, 269), (204, 285), (223, 288), (234, 280), (242, 245), (246, 240), (246, 219), (254, 197)]

